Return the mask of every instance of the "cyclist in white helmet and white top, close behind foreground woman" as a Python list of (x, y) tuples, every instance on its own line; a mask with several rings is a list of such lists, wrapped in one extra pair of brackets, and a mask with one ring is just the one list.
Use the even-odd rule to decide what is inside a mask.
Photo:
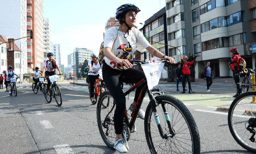
[(102, 72), (101, 72), (101, 63), (98, 60), (98, 56), (96, 54), (91, 54), (92, 60), (88, 62), (89, 72), (88, 72), (88, 79), (90, 82), (90, 97), (92, 98), (92, 102), (95, 102), (94, 99), (94, 84), (96, 79), (103, 79)]

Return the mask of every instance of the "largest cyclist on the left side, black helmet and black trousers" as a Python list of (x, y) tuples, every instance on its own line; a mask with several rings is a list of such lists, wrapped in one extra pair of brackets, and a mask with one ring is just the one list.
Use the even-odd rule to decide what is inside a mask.
[[(62, 73), (60, 71), (60, 68), (58, 66), (58, 62), (53, 59), (53, 53), (51, 53), (51, 52), (47, 53), (47, 57), (49, 58), (49, 60), (46, 60), (44, 62), (44, 69), (43, 69), (42, 78), (44, 78), (44, 73), (45, 73), (45, 76), (55, 75), (56, 68), (60, 72), (60, 75), (62, 75)], [(47, 95), (49, 95), (50, 85), (51, 85), (51, 81), (50, 81), (49, 78), (47, 78), (47, 89), (46, 89), (46, 94)]]

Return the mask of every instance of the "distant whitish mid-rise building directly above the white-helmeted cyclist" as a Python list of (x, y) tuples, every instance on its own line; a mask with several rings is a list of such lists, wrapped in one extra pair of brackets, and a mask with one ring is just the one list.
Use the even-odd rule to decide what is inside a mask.
[(87, 48), (75, 48), (74, 53), (71, 54), (71, 72), (78, 74), (80, 72), (79, 64), (84, 60), (91, 60), (92, 50)]

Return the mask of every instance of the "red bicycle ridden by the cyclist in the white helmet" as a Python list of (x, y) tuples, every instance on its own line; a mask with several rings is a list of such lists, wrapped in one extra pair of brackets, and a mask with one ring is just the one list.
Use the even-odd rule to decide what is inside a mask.
[[(96, 74), (98, 72), (93, 72), (93, 74)], [(99, 83), (98, 83), (99, 82)], [(98, 83), (98, 86), (97, 86)], [(108, 91), (108, 88), (106, 87), (105, 83), (103, 83), (103, 80), (101, 80), (100, 78), (95, 82), (94, 84), (94, 91), (93, 91), (93, 95), (94, 95), (94, 99), (95, 101), (92, 102), (92, 104), (96, 104), (97, 103), (97, 98), (100, 97), (100, 95), (104, 92), (104, 91)], [(91, 101), (92, 98), (90, 97)]]

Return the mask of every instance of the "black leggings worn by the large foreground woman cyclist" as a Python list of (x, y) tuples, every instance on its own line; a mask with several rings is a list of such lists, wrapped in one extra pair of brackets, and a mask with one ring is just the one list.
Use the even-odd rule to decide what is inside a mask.
[[(116, 101), (116, 110), (114, 114), (114, 123), (116, 134), (122, 133), (122, 126), (125, 115), (125, 96), (120, 84), (120, 76), (124, 77), (122, 81), (124, 83), (138, 83), (141, 79), (145, 77), (143, 71), (135, 68), (129, 68), (126, 70), (117, 70), (108, 66), (106, 63), (102, 66), (102, 76), (104, 82)], [(146, 83), (145, 83), (146, 84)], [(138, 101), (140, 91), (145, 86), (145, 84), (140, 85), (135, 92), (134, 101)], [(144, 97), (144, 96), (143, 96)]]

